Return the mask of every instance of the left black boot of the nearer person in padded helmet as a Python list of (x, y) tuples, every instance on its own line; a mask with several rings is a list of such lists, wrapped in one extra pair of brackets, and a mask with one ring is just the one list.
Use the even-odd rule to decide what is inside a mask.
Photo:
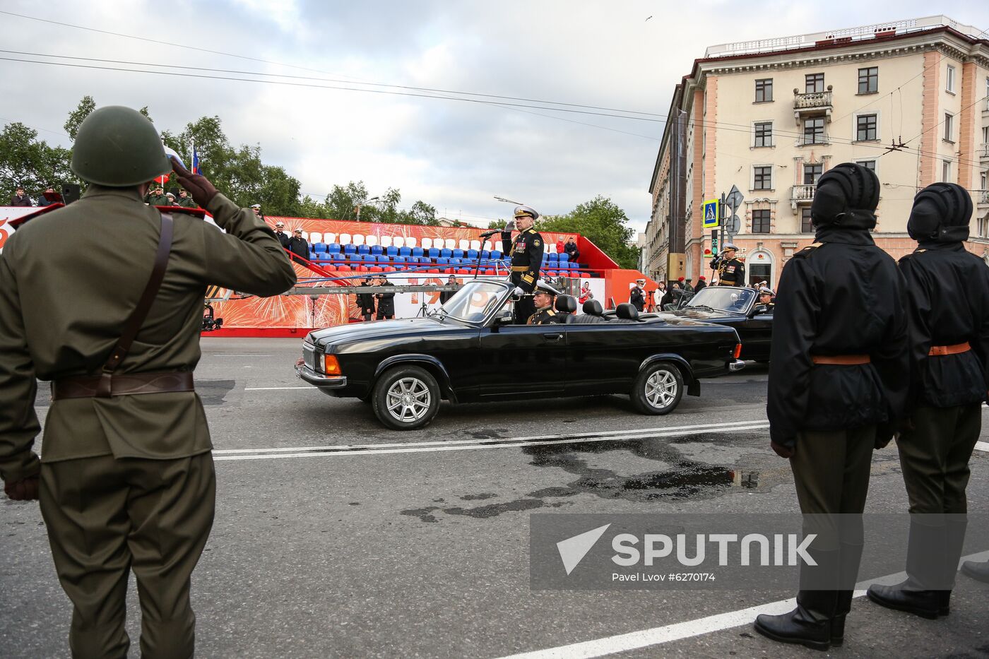
[[(780, 643), (798, 643), (814, 650), (827, 650), (831, 647), (832, 621), (837, 605), (836, 591), (811, 590), (838, 577), (839, 552), (809, 550), (816, 566), (800, 566), (800, 592), (797, 593), (797, 608), (782, 615), (763, 613), (756, 617), (756, 631)], [(844, 627), (843, 627), (844, 633)]]

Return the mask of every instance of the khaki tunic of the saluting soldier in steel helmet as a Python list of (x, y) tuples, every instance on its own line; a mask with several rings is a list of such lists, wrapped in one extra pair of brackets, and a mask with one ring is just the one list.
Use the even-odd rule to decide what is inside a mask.
[[(226, 234), (198, 218), (173, 216), (164, 280), (118, 374), (193, 371), (208, 285), (272, 296), (295, 283), (288, 255), (260, 218), (222, 194), (207, 210)], [(6, 481), (40, 471), (32, 451), (40, 430), (36, 378), (100, 372), (150, 276), (160, 227), (158, 211), (135, 189), (91, 185), (79, 201), (7, 240), (0, 252), (0, 475)], [(41, 459), (175, 459), (212, 447), (195, 392), (66, 398), (48, 410)]]

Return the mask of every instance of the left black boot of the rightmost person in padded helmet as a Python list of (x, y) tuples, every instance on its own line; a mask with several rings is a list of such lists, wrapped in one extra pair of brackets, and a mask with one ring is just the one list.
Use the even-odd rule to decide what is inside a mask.
[(895, 586), (869, 586), (868, 599), (886, 609), (937, 618), (944, 602), (938, 586), (944, 585), (945, 534), (944, 524), (925, 525), (911, 518), (907, 580)]

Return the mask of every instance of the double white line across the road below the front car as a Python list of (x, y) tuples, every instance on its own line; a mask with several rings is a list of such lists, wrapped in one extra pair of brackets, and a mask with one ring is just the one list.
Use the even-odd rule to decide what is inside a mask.
[[(230, 448), (213, 451), (215, 460), (264, 460), (296, 457), (340, 457), (351, 455), (383, 455), (389, 453), (425, 453), (460, 451), (483, 448), (507, 448), (519, 446), (546, 446), (553, 444), (578, 444), (597, 441), (627, 441), (652, 437), (683, 436), (705, 432), (730, 432), (761, 430), (767, 422), (746, 424), (685, 425), (679, 427), (641, 428), (583, 434), (549, 435), (544, 437), (510, 437), (505, 439), (452, 439), (449, 441), (423, 441), (415, 443), (364, 444), (357, 446), (313, 446), (293, 448)], [(293, 452), (296, 451), (296, 452)]]

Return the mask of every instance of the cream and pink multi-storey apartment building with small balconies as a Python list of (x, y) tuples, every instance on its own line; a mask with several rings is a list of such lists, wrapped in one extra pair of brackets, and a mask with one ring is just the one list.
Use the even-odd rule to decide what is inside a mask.
[(645, 271), (709, 274), (703, 202), (734, 185), (745, 200), (733, 241), (750, 282), (774, 285), (813, 241), (817, 179), (847, 161), (882, 183), (873, 237), (892, 256), (916, 246), (906, 223), (917, 191), (949, 181), (972, 194), (968, 248), (989, 263), (987, 35), (938, 16), (709, 47), (674, 90), (650, 184)]

